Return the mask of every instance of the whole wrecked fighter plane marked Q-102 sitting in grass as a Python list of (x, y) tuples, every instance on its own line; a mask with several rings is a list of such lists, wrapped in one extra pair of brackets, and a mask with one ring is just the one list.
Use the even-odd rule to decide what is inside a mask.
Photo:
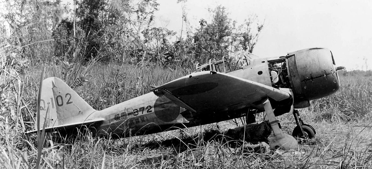
[[(312, 138), (315, 129), (305, 124), (296, 109), (310, 100), (336, 92), (339, 85), (333, 55), (326, 48), (309, 48), (275, 58), (242, 55), (235, 69), (227, 60), (209, 60), (196, 65), (197, 72), (153, 88), (151, 92), (94, 110), (65, 82), (44, 79), (40, 95), (40, 129), (71, 131), (87, 126), (98, 136), (114, 138), (152, 134), (215, 123), (266, 111), (275, 137), (273, 148), (296, 149), (294, 137)], [(276, 116), (294, 115), (292, 136), (282, 133)], [(28, 131), (34, 133), (36, 130)]]

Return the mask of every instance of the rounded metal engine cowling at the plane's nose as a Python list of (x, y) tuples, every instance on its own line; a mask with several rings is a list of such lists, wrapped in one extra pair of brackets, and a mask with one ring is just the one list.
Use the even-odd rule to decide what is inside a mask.
[(289, 78), (294, 92), (294, 108), (305, 108), (310, 100), (333, 94), (340, 88), (332, 52), (309, 48), (288, 53)]

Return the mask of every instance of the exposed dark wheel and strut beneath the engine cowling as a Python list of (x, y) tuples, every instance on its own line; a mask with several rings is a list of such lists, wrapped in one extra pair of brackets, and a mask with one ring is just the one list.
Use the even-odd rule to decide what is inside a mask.
[(297, 126), (293, 129), (292, 136), (302, 139), (314, 138), (317, 132), (315, 131), (314, 127), (310, 126), (309, 124), (305, 124), (304, 121), (301, 120), (298, 110), (293, 110), (293, 116), (295, 117)]

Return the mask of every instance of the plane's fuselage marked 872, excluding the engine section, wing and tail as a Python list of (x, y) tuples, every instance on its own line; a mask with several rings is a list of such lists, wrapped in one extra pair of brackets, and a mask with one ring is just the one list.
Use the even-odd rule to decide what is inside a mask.
[[(262, 71), (262, 73), (257, 74), (258, 71)], [(227, 74), (271, 85), (266, 58), (257, 59), (255, 63), (227, 72)], [(263, 109), (262, 104), (250, 106)], [(112, 133), (112, 137), (129, 137), (229, 120), (246, 114), (247, 108), (232, 108), (230, 112), (191, 114), (167, 97), (158, 97), (154, 92), (150, 92), (97, 111), (94, 115), (106, 119), (102, 125), (96, 128), (99, 135)]]

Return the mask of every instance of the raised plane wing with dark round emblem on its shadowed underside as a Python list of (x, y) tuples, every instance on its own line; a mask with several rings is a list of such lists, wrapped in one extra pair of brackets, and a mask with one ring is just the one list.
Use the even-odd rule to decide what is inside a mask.
[(154, 88), (181, 107), (192, 112), (236, 110), (262, 104), (270, 97), (276, 101), (290, 98), (288, 92), (258, 82), (214, 71), (196, 72)]

